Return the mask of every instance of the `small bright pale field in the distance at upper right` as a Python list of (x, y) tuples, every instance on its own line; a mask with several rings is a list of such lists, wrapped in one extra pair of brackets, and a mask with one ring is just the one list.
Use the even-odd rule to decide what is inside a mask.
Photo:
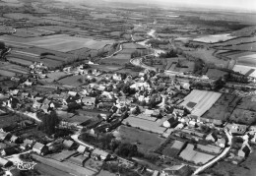
[(231, 36), (229, 33), (224, 33), (224, 34), (207, 35), (207, 36), (194, 38), (193, 41), (215, 43), (215, 42), (221, 42), (228, 39), (232, 39), (234, 37), (236, 36)]

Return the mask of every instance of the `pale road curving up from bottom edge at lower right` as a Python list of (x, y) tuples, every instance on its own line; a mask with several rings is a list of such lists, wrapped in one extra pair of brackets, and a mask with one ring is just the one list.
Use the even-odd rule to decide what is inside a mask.
[(227, 130), (224, 130), (224, 133), (228, 139), (228, 147), (225, 147), (223, 152), (218, 155), (216, 158), (214, 158), (213, 160), (211, 160), (210, 162), (206, 163), (205, 165), (199, 167), (194, 173), (193, 175), (198, 175), (200, 172), (203, 172), (205, 169), (211, 167), (213, 164), (215, 164), (216, 162), (218, 162), (220, 159), (222, 159), (227, 152), (230, 150), (231, 146), (232, 146), (232, 136), (229, 134), (229, 132), (227, 132)]

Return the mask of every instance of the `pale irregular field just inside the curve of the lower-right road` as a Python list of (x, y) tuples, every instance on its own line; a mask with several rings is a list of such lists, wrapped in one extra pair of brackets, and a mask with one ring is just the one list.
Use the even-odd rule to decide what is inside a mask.
[(215, 157), (215, 155), (194, 150), (194, 146), (190, 144), (181, 151), (179, 156), (187, 161), (192, 161), (195, 164), (205, 164)]

